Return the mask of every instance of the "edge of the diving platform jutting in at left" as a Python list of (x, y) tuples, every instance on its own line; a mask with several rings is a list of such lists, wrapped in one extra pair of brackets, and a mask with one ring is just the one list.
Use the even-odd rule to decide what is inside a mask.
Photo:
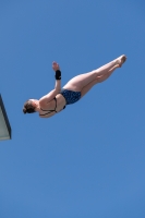
[(2, 97), (0, 95), (0, 141), (1, 140), (11, 140), (11, 126), (8, 120)]

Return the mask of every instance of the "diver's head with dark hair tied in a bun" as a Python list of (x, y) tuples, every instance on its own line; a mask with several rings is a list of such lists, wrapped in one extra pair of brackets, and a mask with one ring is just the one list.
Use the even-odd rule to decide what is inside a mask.
[(23, 106), (24, 113), (33, 113), (36, 112), (37, 102), (38, 100), (29, 99)]

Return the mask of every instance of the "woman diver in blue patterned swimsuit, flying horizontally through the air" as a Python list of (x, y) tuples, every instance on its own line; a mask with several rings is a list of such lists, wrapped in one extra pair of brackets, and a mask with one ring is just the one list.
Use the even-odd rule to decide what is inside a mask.
[(61, 71), (57, 62), (52, 62), (56, 72), (55, 89), (41, 97), (39, 100), (29, 99), (24, 104), (23, 112), (38, 112), (40, 118), (50, 118), (57, 112), (80, 100), (94, 85), (107, 80), (117, 68), (121, 68), (126, 57), (120, 56), (113, 61), (94, 70), (89, 73), (81, 74), (69, 81), (61, 88)]

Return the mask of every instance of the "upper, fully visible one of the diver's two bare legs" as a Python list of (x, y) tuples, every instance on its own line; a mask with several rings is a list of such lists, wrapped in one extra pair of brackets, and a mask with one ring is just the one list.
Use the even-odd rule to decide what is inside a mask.
[(81, 74), (75, 77), (73, 77), (71, 81), (64, 85), (63, 88), (81, 92), (83, 87), (88, 85), (90, 82), (97, 78), (97, 76), (106, 75), (114, 65), (119, 65), (121, 68), (122, 63), (125, 61), (125, 56), (121, 56), (113, 61), (102, 65), (99, 69), (96, 69), (89, 73)]

